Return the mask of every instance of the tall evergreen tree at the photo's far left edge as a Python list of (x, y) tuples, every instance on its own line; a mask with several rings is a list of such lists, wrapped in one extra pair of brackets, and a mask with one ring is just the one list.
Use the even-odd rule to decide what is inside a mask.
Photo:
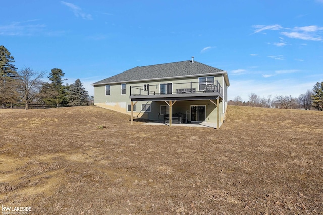
[(0, 104), (17, 102), (17, 68), (15, 59), (3, 46), (0, 46)]

